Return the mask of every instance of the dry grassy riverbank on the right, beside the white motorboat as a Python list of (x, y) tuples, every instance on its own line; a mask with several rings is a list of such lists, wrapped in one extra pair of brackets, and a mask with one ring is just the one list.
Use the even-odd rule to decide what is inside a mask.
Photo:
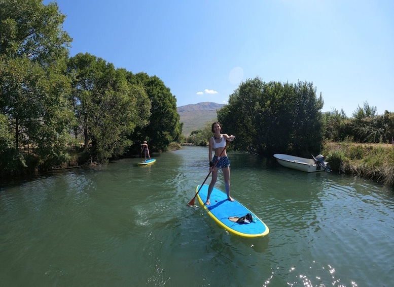
[(391, 144), (327, 142), (322, 154), (334, 172), (360, 176), (394, 188), (394, 147)]

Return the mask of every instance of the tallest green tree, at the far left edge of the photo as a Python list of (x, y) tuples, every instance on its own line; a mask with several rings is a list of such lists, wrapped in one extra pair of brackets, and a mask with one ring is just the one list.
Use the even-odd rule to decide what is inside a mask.
[[(14, 153), (34, 147), (45, 169), (66, 160), (72, 113), (65, 59), (71, 41), (56, 4), (0, 2), (0, 112), (13, 132)], [(25, 154), (14, 156), (26, 166)]]

